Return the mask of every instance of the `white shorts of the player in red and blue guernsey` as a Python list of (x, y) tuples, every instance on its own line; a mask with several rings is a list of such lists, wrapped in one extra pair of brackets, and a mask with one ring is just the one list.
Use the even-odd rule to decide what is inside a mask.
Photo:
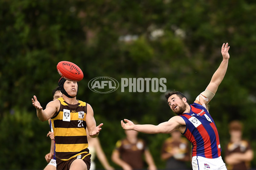
[(227, 167), (221, 156), (218, 158), (204, 158), (202, 156), (192, 157), (193, 170), (227, 170)]

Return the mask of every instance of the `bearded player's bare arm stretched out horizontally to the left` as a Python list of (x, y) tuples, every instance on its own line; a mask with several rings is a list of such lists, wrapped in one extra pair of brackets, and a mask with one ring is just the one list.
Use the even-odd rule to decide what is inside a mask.
[[(125, 123), (125, 122), (126, 123)], [(160, 123), (159, 125), (134, 125), (128, 119), (121, 120), (121, 126), (125, 130), (136, 130), (142, 133), (171, 133), (173, 130), (183, 131), (182, 126), (186, 125), (185, 121), (180, 116), (174, 116), (169, 121)]]

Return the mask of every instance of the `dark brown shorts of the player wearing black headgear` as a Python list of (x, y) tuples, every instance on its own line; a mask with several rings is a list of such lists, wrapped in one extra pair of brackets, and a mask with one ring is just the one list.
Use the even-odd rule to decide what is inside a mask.
[[(56, 170), (69, 170), (70, 165), (72, 162), (76, 159), (83, 159), (84, 163), (87, 165), (87, 170), (90, 170), (90, 157), (91, 155), (87, 155), (88, 153), (82, 153), (79, 156), (76, 156), (75, 158), (72, 158), (68, 161), (61, 161), (60, 159), (56, 158), (57, 168)], [(87, 155), (87, 156), (86, 156)], [(84, 157), (85, 156), (85, 157)]]

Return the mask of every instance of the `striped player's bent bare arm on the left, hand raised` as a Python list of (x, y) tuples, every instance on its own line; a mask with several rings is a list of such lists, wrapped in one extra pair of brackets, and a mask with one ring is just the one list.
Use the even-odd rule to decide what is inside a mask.
[(55, 115), (55, 113), (58, 111), (58, 108), (60, 107), (60, 102), (58, 100), (51, 101), (43, 110), (42, 106), (38, 102), (38, 99), (36, 96), (34, 96), (34, 99), (32, 99), (32, 105), (36, 108), (38, 119), (44, 122)]

